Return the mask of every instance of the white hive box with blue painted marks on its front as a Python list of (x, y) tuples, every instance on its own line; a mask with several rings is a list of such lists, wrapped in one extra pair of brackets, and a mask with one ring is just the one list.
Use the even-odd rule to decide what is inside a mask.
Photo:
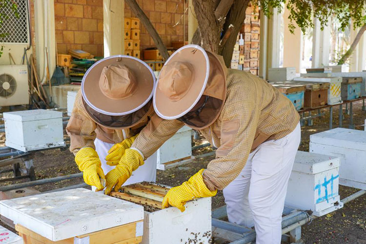
[(288, 181), (285, 205), (323, 216), (343, 207), (338, 194), (340, 160), (298, 151)]

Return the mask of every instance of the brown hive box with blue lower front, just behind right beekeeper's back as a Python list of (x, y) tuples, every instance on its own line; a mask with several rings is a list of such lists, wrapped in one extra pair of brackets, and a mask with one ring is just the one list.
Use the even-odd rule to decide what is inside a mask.
[(296, 110), (304, 108), (305, 85), (291, 81), (271, 83), (294, 104)]

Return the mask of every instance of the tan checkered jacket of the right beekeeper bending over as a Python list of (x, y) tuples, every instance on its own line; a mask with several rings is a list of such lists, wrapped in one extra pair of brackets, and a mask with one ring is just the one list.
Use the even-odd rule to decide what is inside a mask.
[[(200, 130), (218, 148), (216, 159), (203, 172), (210, 190), (227, 186), (243, 169), (250, 151), (263, 142), (285, 137), (300, 119), (293, 104), (263, 79), (234, 69), (228, 69), (226, 79), (226, 101), (219, 118)], [(131, 147), (148, 158), (182, 126), (177, 120), (154, 115)]]

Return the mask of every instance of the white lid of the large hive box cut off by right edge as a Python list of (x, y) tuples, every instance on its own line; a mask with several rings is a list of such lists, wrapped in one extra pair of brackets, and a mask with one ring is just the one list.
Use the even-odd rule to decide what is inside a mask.
[(335, 128), (310, 135), (310, 142), (366, 151), (366, 131)]

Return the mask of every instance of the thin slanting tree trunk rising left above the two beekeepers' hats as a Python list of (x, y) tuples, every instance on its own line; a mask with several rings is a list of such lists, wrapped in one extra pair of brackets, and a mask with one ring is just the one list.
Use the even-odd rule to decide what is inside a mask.
[(167, 60), (169, 58), (168, 50), (166, 49), (162, 39), (160, 38), (158, 32), (155, 30), (152, 23), (150, 22), (150, 20), (147, 18), (145, 13), (140, 8), (139, 4), (136, 2), (136, 0), (125, 0), (125, 2), (131, 8), (132, 12), (136, 15), (136, 17), (141, 20), (141, 22), (145, 26), (147, 32), (150, 34), (150, 36), (154, 40), (155, 45), (159, 49), (163, 59)]

